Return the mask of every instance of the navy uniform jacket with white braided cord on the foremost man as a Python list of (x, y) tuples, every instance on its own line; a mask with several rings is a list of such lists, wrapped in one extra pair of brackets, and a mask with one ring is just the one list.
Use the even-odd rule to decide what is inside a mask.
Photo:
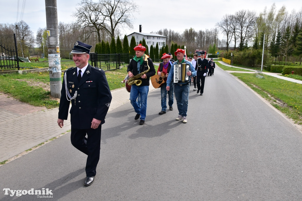
[[(83, 77), (78, 81), (77, 68), (65, 71), (67, 88), (71, 96), (77, 91), (76, 99), (71, 100), (71, 127), (89, 129), (92, 119), (105, 123), (105, 116), (112, 99), (105, 72), (88, 64)], [(70, 99), (70, 98), (69, 98)], [(63, 80), (59, 105), (59, 119), (67, 119), (70, 101), (66, 98), (65, 82)]]

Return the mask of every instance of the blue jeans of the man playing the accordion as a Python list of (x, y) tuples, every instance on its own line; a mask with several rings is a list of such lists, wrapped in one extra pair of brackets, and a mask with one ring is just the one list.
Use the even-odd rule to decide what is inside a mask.
[(183, 117), (187, 116), (188, 111), (188, 100), (189, 100), (189, 91), (190, 85), (182, 85), (174, 84), (174, 94), (177, 103), (178, 115), (182, 115)]

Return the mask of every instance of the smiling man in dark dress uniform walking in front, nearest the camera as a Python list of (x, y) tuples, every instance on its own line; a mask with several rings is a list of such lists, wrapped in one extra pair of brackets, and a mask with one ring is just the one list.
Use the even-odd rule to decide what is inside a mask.
[(76, 68), (69, 68), (64, 73), (57, 121), (62, 128), (71, 101), (71, 143), (88, 155), (85, 186), (91, 185), (95, 179), (100, 158), (101, 124), (105, 123), (112, 99), (104, 71), (88, 64), (91, 48), (80, 41), (72, 48)]

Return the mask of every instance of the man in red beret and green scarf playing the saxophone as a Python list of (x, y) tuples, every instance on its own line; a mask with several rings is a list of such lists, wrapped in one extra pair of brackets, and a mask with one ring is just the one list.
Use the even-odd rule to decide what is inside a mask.
[[(150, 77), (155, 75), (155, 68), (152, 60), (148, 55), (145, 54), (146, 47), (139, 44), (134, 47), (135, 57), (133, 57), (128, 65), (127, 72), (128, 76), (137, 77), (137, 80), (140, 80), (139, 86), (133, 84), (130, 91), (130, 103), (134, 108), (134, 111), (137, 113), (134, 120), (140, 118), (140, 125), (145, 123), (146, 110), (147, 110), (147, 96), (149, 92), (149, 80)], [(142, 74), (140, 76), (140, 74)], [(141, 105), (137, 103), (137, 97), (140, 95)]]

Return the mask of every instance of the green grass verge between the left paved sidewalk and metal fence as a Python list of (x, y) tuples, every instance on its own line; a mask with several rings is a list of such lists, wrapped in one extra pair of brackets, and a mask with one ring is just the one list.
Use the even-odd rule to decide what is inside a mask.
[[(155, 66), (157, 70), (158, 66)], [(124, 87), (124, 83), (120, 83), (127, 75), (127, 68), (106, 71), (105, 72), (110, 90)], [(34, 106), (45, 106), (46, 108), (56, 108), (59, 106), (58, 101), (51, 99), (50, 91), (44, 90), (40, 86), (31, 86), (27, 83), (42, 82), (49, 85), (49, 73), (25, 73), (25, 74), (2, 74), (0, 75), (0, 91), (7, 93), (8, 96), (14, 97)], [(63, 82), (63, 73), (62, 73)]]

